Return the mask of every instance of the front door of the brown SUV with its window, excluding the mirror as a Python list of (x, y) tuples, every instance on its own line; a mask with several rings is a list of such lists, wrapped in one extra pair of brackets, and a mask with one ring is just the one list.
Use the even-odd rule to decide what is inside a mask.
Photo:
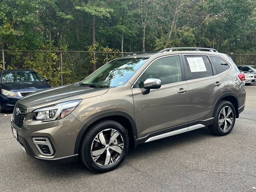
[[(162, 86), (143, 95), (143, 82), (148, 78), (160, 79)], [(139, 138), (187, 127), (188, 86), (180, 55), (154, 60), (134, 82), (132, 94)]]

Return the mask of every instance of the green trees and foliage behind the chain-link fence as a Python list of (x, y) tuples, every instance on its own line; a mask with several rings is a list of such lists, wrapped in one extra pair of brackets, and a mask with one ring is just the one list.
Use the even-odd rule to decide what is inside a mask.
[[(255, 7), (255, 0), (2, 0), (0, 45), (9, 50), (107, 52), (198, 46), (255, 54)], [(9, 54), (7, 68), (26, 64), (59, 84), (58, 54)], [(121, 55), (108, 54), (108, 60)], [(78, 68), (72, 61), (87, 66)], [(92, 72), (91, 65), (95, 70), (106, 61), (105, 53), (65, 57), (65, 81), (82, 80)], [(74, 75), (78, 70), (84, 76)]]

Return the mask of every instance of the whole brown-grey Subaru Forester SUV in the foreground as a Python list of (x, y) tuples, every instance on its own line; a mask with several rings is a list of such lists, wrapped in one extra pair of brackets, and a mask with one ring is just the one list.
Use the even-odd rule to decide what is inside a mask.
[[(200, 50), (200, 51), (199, 51)], [(12, 132), (30, 156), (118, 167), (129, 146), (208, 126), (224, 136), (244, 110), (244, 74), (210, 48), (168, 48), (112, 60), (81, 82), (20, 99)]]

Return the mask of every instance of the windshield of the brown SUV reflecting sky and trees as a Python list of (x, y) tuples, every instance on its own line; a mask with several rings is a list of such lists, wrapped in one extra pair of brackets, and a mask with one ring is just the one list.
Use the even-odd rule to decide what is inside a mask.
[(105, 64), (82, 84), (93, 84), (103, 87), (115, 87), (125, 84), (130, 77), (146, 62), (148, 58), (120, 58)]

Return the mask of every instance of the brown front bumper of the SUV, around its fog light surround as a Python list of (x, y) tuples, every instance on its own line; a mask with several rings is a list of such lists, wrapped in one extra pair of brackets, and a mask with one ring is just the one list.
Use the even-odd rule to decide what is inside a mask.
[[(17, 141), (26, 153), (36, 159), (54, 162), (76, 162), (78, 154), (74, 154), (75, 142), (83, 124), (72, 114), (62, 120), (42, 122), (32, 119), (27, 114), (21, 128), (11, 121), (12, 131), (17, 131)], [(48, 138), (54, 153), (51, 156), (42, 155), (33, 138)]]

